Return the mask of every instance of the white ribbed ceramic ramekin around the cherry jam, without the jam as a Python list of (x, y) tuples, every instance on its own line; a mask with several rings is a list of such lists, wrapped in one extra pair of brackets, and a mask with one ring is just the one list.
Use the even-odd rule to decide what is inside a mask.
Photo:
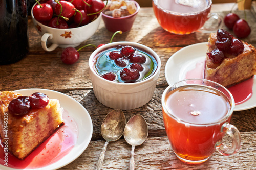
[[(98, 53), (117, 45), (130, 45), (151, 54), (157, 61), (154, 74), (145, 80), (135, 83), (118, 83), (100, 77), (93, 67), (93, 59)], [(95, 50), (89, 58), (89, 74), (96, 98), (105, 106), (114, 109), (130, 110), (148, 103), (153, 96), (160, 75), (161, 60), (151, 48), (134, 42), (113, 42)]]

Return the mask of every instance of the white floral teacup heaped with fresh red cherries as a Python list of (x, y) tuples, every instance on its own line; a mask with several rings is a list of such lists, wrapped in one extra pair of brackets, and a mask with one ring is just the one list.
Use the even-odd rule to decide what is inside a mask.
[[(42, 36), (42, 48), (53, 51), (57, 47), (80, 45), (97, 31), (104, 7), (101, 0), (35, 3), (31, 16), (36, 31)], [(50, 47), (47, 41), (52, 43)]]

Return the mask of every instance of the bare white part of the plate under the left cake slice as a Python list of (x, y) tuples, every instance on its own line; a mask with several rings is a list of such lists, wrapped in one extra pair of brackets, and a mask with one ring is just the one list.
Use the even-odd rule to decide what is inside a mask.
[[(38, 170), (39, 169), (40, 170), (58, 169), (60, 167), (63, 167), (71, 163), (72, 161), (74, 161), (78, 156), (80, 156), (83, 153), (84, 150), (86, 150), (92, 138), (93, 124), (92, 124), (92, 119), (90, 117), (90, 114), (79, 102), (77, 102), (75, 99), (71, 98), (66, 94), (53, 91), (53, 90), (22, 89), (22, 90), (17, 90), (16, 92), (19, 92), (26, 96), (29, 96), (34, 92), (41, 92), (41, 93), (47, 94), (49, 98), (58, 99), (60, 102), (60, 106), (63, 107), (66, 111), (68, 111), (70, 117), (72, 117), (77, 124), (78, 138), (77, 138), (76, 144), (71, 149), (71, 151), (67, 153), (66, 156), (63, 156), (57, 162), (42, 168), (38, 168)], [(0, 169), (4, 170), (4, 169), (13, 169), (13, 168), (0, 165)]]

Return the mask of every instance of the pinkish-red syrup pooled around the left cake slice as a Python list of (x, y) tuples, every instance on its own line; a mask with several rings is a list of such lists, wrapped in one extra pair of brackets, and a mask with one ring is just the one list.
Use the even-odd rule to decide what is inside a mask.
[(75, 121), (66, 110), (64, 110), (62, 117), (65, 125), (39, 145), (24, 160), (19, 160), (8, 152), (8, 163), (5, 164), (4, 147), (0, 142), (0, 164), (8, 165), (10, 168), (35, 169), (49, 166), (67, 155), (76, 144), (78, 130)]

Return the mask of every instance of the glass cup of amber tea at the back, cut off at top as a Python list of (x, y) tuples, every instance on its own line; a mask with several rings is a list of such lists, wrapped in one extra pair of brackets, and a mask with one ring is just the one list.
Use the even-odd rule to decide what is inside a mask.
[(153, 0), (153, 9), (161, 27), (174, 34), (193, 33), (211, 17), (218, 23), (210, 29), (217, 30), (222, 23), (217, 14), (209, 15), (211, 0)]

